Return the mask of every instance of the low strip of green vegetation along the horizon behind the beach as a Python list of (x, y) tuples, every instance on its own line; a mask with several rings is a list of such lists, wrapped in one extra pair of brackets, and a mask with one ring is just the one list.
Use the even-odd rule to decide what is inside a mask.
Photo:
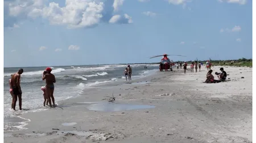
[[(184, 61), (176, 61), (176, 62), (184, 62)], [(175, 63), (176, 63), (175, 62)], [(186, 61), (187, 63), (191, 63), (192, 60)], [(203, 62), (204, 64), (207, 60), (199, 60), (199, 62)], [(253, 59), (230, 59), (230, 60), (210, 60), (213, 66), (237, 66), (237, 67), (253, 67)], [(159, 64), (157, 63), (128, 63), (128, 64)]]

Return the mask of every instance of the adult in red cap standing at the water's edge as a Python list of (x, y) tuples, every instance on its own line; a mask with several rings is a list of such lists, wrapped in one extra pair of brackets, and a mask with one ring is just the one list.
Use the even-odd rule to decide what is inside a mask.
[[(53, 92), (54, 92), (54, 83), (56, 83), (55, 76), (51, 73), (52, 69), (50, 67), (46, 68), (46, 71), (43, 72), (43, 80), (46, 80), (46, 96), (47, 100), (49, 102), (49, 106), (52, 107), (55, 106), (55, 99), (53, 97)], [(52, 102), (51, 102), (52, 98)]]

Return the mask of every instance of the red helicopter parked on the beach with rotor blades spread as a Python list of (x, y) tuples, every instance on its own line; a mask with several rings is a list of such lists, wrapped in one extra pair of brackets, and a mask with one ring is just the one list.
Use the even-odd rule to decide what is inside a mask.
[[(163, 55), (155, 55), (153, 57), (150, 57), (150, 59), (152, 58), (156, 58), (156, 57), (161, 57), (163, 56), (163, 58), (161, 59), (160, 65), (159, 65), (159, 70), (163, 71), (165, 69), (165, 71), (168, 71), (168, 69), (170, 69), (172, 71), (172, 66), (175, 65), (173, 60), (170, 60), (167, 56), (169, 56), (168, 54), (163, 54)], [(185, 55), (175, 55), (175, 56), (180, 56), (180, 57), (185, 57)]]

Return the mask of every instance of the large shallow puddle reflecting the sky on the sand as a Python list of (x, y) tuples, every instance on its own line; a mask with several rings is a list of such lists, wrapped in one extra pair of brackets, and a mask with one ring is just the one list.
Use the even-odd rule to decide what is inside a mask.
[(125, 111), (125, 110), (136, 110), (136, 109), (151, 109), (155, 106), (150, 105), (129, 105), (129, 104), (116, 104), (116, 103), (96, 103), (88, 106), (89, 110), (94, 111)]

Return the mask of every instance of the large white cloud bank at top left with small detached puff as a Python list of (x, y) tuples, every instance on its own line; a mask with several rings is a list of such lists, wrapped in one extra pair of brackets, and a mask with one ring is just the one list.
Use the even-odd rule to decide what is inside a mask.
[[(124, 0), (114, 0), (113, 5), (104, 5), (106, 1), (101, 0), (65, 0), (64, 6), (60, 6), (56, 2), (45, 5), (46, 2), (47, 0), (26, 0), (26, 2), (9, 0), (5, 2), (5, 8), (8, 11), (5, 12), (5, 23), (8, 23), (8, 18), (10, 23), (22, 18), (44, 18), (52, 25), (67, 25), (68, 28), (94, 27), (101, 22), (109, 21), (111, 17), (108, 15), (117, 12)], [(131, 16), (127, 14), (123, 15), (121, 20), (123, 19), (126, 19), (127, 23), (132, 23)], [(125, 21), (123, 20), (122, 23)], [(5, 25), (13, 27), (13, 24)]]

